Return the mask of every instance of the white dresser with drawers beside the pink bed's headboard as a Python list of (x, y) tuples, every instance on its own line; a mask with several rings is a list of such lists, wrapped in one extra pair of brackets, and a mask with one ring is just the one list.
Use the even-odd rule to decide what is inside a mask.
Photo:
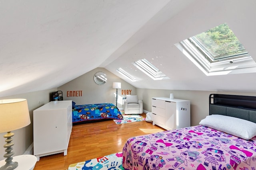
[(152, 121), (167, 130), (190, 127), (190, 101), (152, 98)]

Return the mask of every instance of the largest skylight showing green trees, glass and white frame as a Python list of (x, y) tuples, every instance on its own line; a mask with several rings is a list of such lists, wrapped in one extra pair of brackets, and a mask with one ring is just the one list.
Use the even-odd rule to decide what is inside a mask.
[(175, 45), (207, 76), (256, 72), (256, 63), (226, 23)]

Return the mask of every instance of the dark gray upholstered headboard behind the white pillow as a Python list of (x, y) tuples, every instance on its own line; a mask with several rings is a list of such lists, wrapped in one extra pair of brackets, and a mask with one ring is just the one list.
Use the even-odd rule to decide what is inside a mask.
[(238, 117), (256, 123), (256, 96), (210, 94), (209, 115)]

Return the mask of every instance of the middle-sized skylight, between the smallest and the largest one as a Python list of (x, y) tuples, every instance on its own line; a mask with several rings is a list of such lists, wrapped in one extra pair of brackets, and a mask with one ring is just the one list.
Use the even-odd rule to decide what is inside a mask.
[(133, 64), (153, 80), (169, 79), (164, 73), (158, 70), (158, 68), (148, 62), (146, 59), (140, 59), (135, 61)]

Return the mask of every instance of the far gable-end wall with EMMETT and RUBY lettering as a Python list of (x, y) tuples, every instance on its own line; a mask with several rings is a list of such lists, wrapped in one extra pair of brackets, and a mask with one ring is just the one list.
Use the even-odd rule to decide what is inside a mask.
[[(106, 74), (108, 80), (105, 84), (98, 85), (94, 82), (94, 74), (97, 72), (104, 72)], [(98, 103), (116, 104), (116, 89), (112, 88), (113, 82), (121, 82), (121, 89), (118, 89), (118, 108), (122, 108), (122, 97), (126, 96), (124, 94), (122, 95), (122, 90), (132, 90), (132, 94), (136, 94), (136, 88), (105, 68), (95, 68), (58, 87), (58, 90), (63, 92), (64, 100), (72, 100), (76, 102), (77, 105)], [(73, 90), (82, 90), (82, 96), (67, 97), (67, 92)]]

